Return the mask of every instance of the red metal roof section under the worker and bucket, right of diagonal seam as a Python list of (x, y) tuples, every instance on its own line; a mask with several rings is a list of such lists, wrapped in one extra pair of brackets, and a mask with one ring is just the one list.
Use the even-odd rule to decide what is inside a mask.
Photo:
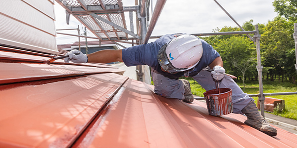
[(150, 87), (129, 79), (104, 119), (94, 120), (74, 147), (297, 147), (297, 135), (283, 129), (275, 127), (278, 135), (271, 137), (244, 124), (246, 116), (211, 116), (206, 103), (163, 98)]

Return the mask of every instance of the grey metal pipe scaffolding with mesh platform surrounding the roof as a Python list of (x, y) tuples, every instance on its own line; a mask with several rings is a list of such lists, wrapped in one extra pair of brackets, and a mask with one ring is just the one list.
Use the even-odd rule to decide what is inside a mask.
[[(154, 9), (152, 8), (152, 0), (135, 0), (135, 6), (123, 6), (122, 0), (55, 0), (66, 10), (66, 22), (69, 24), (69, 16), (73, 15), (77, 20), (79, 20), (85, 27), (87, 27), (100, 41), (109, 40), (113, 42), (124, 42), (135, 44), (148, 43), (149, 38), (159, 38), (161, 36), (151, 36), (151, 33), (156, 25), (156, 22), (161, 14), (161, 11), (166, 3), (166, 0), (157, 0)], [(261, 55), (260, 55), (260, 34), (258, 26), (255, 25), (255, 31), (245, 31), (236, 20), (218, 3), (214, 0), (219, 7), (237, 24), (237, 26), (242, 30), (239, 32), (219, 32), (219, 33), (198, 33), (192, 34), (194, 36), (215, 36), (215, 35), (239, 35), (246, 34), (256, 44), (257, 52), (257, 71), (258, 71), (258, 81), (259, 81), (259, 94), (250, 95), (251, 97), (259, 97), (261, 103), (260, 109), (261, 114), (264, 117), (264, 100), (265, 96), (268, 95), (288, 95), (297, 94), (297, 92), (287, 92), (287, 93), (269, 93), (265, 94), (263, 92), (262, 83), (262, 69), (261, 65)], [(149, 8), (151, 8), (151, 17), (149, 15)], [(130, 20), (130, 31), (127, 29), (124, 12), (129, 12)], [(133, 20), (133, 12), (136, 14), (136, 22)], [(149, 20), (150, 19), (150, 20)], [(134, 32), (134, 24), (136, 24), (136, 33)], [(294, 24), (295, 33), (295, 46), (297, 49), (297, 23)], [(80, 35), (71, 35), (58, 33), (69, 36), (77, 37), (87, 37)], [(251, 37), (249, 34), (254, 34)], [(131, 37), (129, 37), (129, 35)], [(125, 41), (126, 40), (126, 41)], [(131, 40), (131, 42), (127, 41)], [(134, 42), (135, 40), (135, 42)], [(296, 53), (296, 63), (297, 63), (297, 53)], [(297, 70), (297, 64), (295, 64)], [(137, 75), (139, 80), (143, 80), (143, 76), (149, 76), (149, 74), (144, 74), (143, 69), (148, 69), (148, 67), (137, 67)], [(201, 99), (203, 97), (196, 97), (195, 99)]]

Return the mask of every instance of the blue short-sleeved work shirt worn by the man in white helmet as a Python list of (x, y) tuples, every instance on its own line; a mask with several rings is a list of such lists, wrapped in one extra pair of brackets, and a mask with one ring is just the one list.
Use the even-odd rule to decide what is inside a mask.
[[(126, 66), (136, 65), (148, 65), (155, 71), (170, 78), (179, 78), (184, 76), (185, 72), (177, 74), (169, 74), (161, 70), (161, 66), (158, 63), (157, 55), (161, 47), (168, 41), (172, 40), (175, 34), (164, 35), (153, 42), (148, 44), (142, 44), (137, 46), (128, 47), (122, 50), (122, 59)], [(213, 49), (206, 41), (199, 38), (202, 42), (203, 54), (199, 63), (191, 71), (189, 70), (189, 76), (197, 75), (203, 68), (206, 68), (215, 58), (220, 54)]]

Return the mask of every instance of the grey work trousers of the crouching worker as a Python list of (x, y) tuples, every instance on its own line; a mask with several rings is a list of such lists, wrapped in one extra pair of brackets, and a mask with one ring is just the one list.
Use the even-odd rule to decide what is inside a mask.
[[(158, 73), (153, 69), (151, 69), (151, 77), (154, 83), (154, 92), (157, 95), (166, 98), (176, 98), (180, 100), (183, 100), (185, 98), (185, 88), (181, 80), (165, 77), (164, 75)], [(206, 70), (202, 70), (197, 75), (193, 76), (193, 78), (206, 91), (216, 89), (216, 83), (212, 78), (211, 73)], [(242, 91), (242, 89), (230, 76), (225, 75), (219, 82), (219, 87), (230, 88), (232, 90), (232, 103), (234, 113), (242, 113), (241, 110), (245, 108), (251, 100), (253, 100), (253, 98), (249, 97), (247, 93), (244, 93)]]

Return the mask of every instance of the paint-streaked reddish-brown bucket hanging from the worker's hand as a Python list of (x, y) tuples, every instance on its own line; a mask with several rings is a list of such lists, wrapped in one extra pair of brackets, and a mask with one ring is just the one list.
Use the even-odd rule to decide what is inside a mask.
[(232, 90), (230, 88), (208, 90), (203, 95), (210, 115), (218, 116), (233, 112)]

